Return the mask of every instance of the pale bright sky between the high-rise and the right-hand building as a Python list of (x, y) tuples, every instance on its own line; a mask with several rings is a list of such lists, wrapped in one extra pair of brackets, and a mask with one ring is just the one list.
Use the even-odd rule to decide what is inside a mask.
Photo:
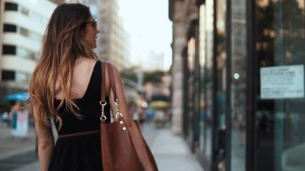
[(123, 27), (130, 39), (131, 63), (147, 61), (149, 50), (165, 53), (164, 68), (172, 64), (172, 22), (168, 0), (118, 0)]

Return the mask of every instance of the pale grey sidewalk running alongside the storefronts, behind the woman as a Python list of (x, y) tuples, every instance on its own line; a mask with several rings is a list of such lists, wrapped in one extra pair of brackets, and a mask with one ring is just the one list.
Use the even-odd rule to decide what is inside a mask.
[[(181, 136), (174, 136), (170, 129), (156, 129), (154, 124), (146, 124), (142, 132), (148, 146), (154, 153), (159, 170), (203, 170), (184, 139)], [(14, 171), (35, 170), (39, 170), (38, 161), (14, 169)]]

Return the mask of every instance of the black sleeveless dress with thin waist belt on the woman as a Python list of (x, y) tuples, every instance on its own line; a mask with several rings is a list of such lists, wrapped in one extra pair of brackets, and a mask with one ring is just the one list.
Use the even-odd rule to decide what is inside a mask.
[[(94, 65), (84, 96), (74, 99), (83, 119), (77, 118), (72, 112), (65, 109), (64, 105), (59, 112), (63, 121), (62, 127), (59, 129), (59, 124), (56, 123), (58, 135), (100, 130), (101, 105), (99, 101), (102, 79), (101, 62), (98, 60)], [(106, 100), (105, 112), (108, 115), (107, 122), (109, 122), (110, 107), (108, 98)], [(60, 100), (55, 100), (55, 105), (58, 106), (59, 102)], [(102, 170), (100, 133), (58, 138), (49, 165), (49, 171), (53, 170)]]

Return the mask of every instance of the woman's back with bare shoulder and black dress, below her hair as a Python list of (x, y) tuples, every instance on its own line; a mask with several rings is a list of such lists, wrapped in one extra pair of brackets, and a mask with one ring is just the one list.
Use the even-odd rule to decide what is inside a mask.
[[(62, 126), (59, 129), (57, 122), (59, 138), (49, 170), (101, 170), (101, 62), (81, 59), (74, 68), (71, 87), (75, 93), (71, 95), (82, 118), (67, 110), (65, 105), (60, 108)], [(55, 99), (55, 107), (59, 105), (60, 98), (58, 95)], [(110, 108), (107, 106), (106, 113), (109, 113)], [(71, 162), (74, 164), (65, 164)]]

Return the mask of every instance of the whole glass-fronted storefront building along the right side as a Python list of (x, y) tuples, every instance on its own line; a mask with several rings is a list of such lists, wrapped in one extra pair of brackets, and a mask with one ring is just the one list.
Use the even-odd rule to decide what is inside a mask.
[(169, 0), (173, 131), (205, 170), (305, 170), (304, 0)]

